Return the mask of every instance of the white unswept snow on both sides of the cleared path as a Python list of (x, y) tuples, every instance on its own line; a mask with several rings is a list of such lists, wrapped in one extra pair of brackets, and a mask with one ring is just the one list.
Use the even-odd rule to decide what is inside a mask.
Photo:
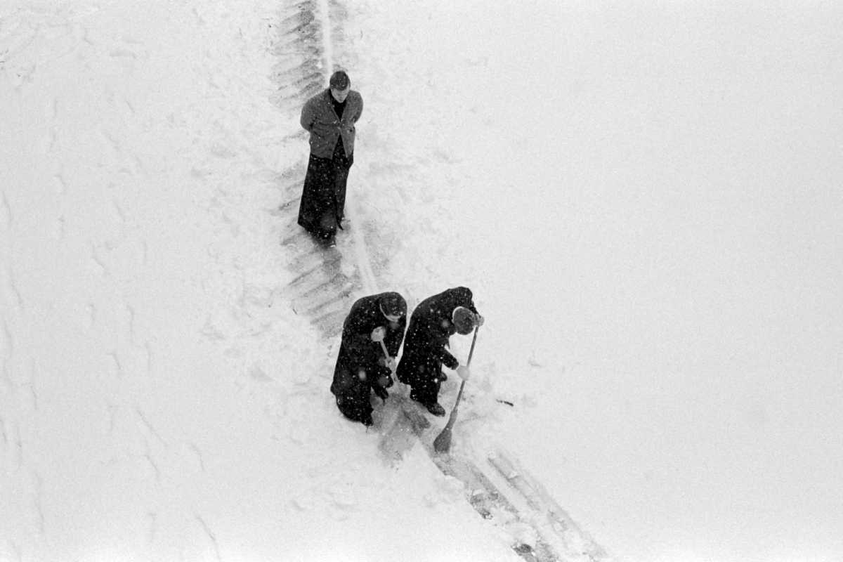
[[(456, 437), (618, 559), (843, 558), (843, 8), (451, 4), (334, 58), (377, 288), (486, 316)], [(0, 4), (0, 560), (519, 559), (285, 300), (282, 5)]]

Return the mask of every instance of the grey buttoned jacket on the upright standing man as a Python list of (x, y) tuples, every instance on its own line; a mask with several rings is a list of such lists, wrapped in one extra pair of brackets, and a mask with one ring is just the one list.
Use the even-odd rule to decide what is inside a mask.
[(354, 153), (354, 125), (363, 112), (363, 99), (352, 90), (346, 97), (342, 118), (336, 116), (331, 103), (330, 88), (314, 95), (302, 108), (301, 124), (310, 133), (310, 153), (316, 158), (331, 158), (336, 142), (342, 136), (346, 158)]

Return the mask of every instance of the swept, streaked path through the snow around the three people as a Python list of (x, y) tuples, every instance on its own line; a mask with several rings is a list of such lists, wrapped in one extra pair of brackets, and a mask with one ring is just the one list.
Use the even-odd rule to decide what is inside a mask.
[[(287, 70), (275, 73), (274, 77), (280, 91), (289, 91), (291, 84), (296, 88), (291, 93), (296, 103), (291, 103), (289, 97), (277, 100), (279, 107), (291, 112), (291, 120), (310, 95), (325, 88), (331, 72), (344, 68), (335, 64), (333, 58), (335, 53), (339, 56), (343, 52), (334, 40), (341, 36), (343, 22), (330, 18), (329, 5), (333, 4), (327, 0), (315, 6), (295, 4), (290, 8), (292, 13), (283, 20), (289, 26), (280, 30), (282, 37), (292, 35), (293, 38), (280, 42), (283, 49), (277, 51), (278, 67)], [(318, 13), (314, 14), (313, 10)], [(324, 65), (323, 72), (312, 72), (320, 63)], [(306, 137), (299, 133), (293, 138), (303, 142)], [(366, 294), (395, 290), (381, 286), (369, 259), (367, 238), (382, 238), (380, 231), (384, 226), (377, 223), (378, 217), (367, 217), (359, 199), (351, 195), (352, 224), (337, 234), (336, 247), (325, 248), (314, 242), (296, 223), (297, 194), (302, 189), (304, 171), (305, 164), (299, 162), (282, 174), (285, 195), (276, 214), (287, 225), (282, 246), (291, 255), (289, 264), (294, 276), (284, 294), (290, 298), (294, 313), (310, 318), (325, 340), (336, 345), (342, 321), (354, 300)], [(359, 175), (359, 171), (352, 169), (350, 185), (368, 183)], [(459, 447), (447, 454), (433, 451), (432, 441), (441, 427), (438, 423), (432, 425), (423, 409), (406, 394), (404, 385), (397, 383), (391, 389), (390, 398), (376, 409), (376, 428), (382, 434), (379, 451), (388, 463), (400, 463), (405, 453), (421, 442), (442, 473), (463, 484), (466, 499), (475, 511), (502, 528), (511, 537), (514, 552), (525, 560), (594, 562), (608, 558), (540, 484), (523, 468), (516, 468), (517, 463), (502, 449), (480, 458), (468, 456), (469, 451)]]

